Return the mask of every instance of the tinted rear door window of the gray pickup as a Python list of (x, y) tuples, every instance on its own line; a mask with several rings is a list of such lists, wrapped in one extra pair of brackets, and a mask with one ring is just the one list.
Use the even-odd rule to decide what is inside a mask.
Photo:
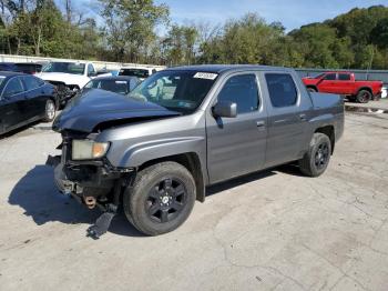
[(290, 74), (266, 73), (265, 79), (273, 107), (283, 108), (296, 104), (298, 91)]

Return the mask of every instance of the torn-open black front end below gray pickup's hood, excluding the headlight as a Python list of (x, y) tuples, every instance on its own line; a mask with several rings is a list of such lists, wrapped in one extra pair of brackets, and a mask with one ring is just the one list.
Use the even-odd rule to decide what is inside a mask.
[(54, 168), (60, 192), (71, 195), (89, 209), (100, 208), (103, 214), (88, 229), (88, 235), (98, 239), (105, 233), (116, 214), (122, 190), (131, 181), (134, 169), (118, 169), (104, 157), (95, 160), (74, 160), (74, 141), (92, 141), (93, 134), (62, 132), (61, 155), (49, 157), (47, 164)]

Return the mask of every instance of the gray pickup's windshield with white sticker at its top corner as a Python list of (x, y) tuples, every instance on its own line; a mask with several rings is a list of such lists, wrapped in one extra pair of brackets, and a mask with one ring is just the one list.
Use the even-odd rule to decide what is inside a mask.
[(207, 72), (163, 71), (140, 83), (129, 97), (188, 114), (201, 106), (216, 78)]

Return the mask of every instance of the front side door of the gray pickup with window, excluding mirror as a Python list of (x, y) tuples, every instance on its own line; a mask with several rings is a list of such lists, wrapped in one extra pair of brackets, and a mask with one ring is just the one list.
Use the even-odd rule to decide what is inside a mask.
[(207, 169), (211, 183), (263, 168), (266, 151), (267, 114), (258, 90), (256, 73), (228, 77), (217, 101), (237, 104), (236, 118), (206, 117)]

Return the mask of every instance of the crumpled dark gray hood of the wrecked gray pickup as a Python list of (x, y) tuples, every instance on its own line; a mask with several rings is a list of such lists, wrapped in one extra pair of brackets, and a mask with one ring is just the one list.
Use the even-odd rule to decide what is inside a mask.
[(153, 119), (180, 114), (151, 102), (135, 101), (104, 90), (88, 89), (65, 107), (52, 128), (55, 131), (74, 130), (89, 133), (104, 122), (130, 122), (139, 118)]

